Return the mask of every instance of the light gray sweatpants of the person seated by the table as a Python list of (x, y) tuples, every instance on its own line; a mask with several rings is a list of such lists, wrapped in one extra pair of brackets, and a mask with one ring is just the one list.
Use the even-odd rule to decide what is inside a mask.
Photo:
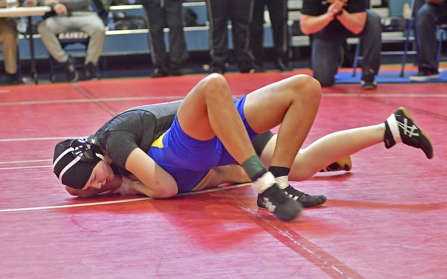
[(60, 46), (56, 34), (69, 29), (80, 29), (89, 35), (85, 64), (96, 64), (103, 49), (106, 29), (95, 12), (73, 12), (70, 16), (50, 17), (37, 28), (48, 52), (59, 63), (67, 61), (68, 56)]

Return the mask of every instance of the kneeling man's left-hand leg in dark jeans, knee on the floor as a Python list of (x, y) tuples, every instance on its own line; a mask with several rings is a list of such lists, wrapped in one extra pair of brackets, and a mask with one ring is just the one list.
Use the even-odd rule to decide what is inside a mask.
[(344, 37), (332, 40), (313, 38), (313, 77), (320, 82), (321, 86), (334, 84), (334, 75), (337, 73), (340, 59), (340, 48), (344, 40)]

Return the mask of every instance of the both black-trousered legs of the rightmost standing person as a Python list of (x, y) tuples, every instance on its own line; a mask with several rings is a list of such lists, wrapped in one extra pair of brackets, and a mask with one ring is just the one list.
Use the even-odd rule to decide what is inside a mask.
[(290, 70), (289, 34), (287, 26), (287, 0), (254, 0), (253, 18), (250, 25), (250, 47), (254, 63), (259, 71), (264, 68), (264, 7), (269, 9), (273, 32), (273, 61), (280, 71)]

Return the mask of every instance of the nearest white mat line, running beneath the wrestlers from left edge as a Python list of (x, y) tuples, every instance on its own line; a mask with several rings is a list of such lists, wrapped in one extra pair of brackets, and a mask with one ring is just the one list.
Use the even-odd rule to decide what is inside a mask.
[[(243, 186), (247, 186), (247, 185), (251, 185), (251, 183), (243, 183), (243, 184), (238, 184), (238, 185), (231, 185), (231, 186), (219, 187), (219, 188), (202, 190), (202, 191), (196, 191), (196, 192), (182, 193), (182, 194), (178, 194), (176, 196), (180, 196), (180, 195), (196, 195), (196, 194), (202, 194), (202, 193), (217, 192), (217, 191), (222, 191), (222, 190), (239, 188), (239, 187), (243, 187)], [(112, 201), (100, 201), (100, 202), (89, 202), (89, 203), (78, 203), (78, 204), (67, 204), (67, 205), (10, 208), (10, 209), (0, 209), (0, 212), (55, 209), (55, 208), (67, 208), (67, 207), (80, 207), (80, 206), (91, 206), (91, 205), (100, 205), (100, 204), (132, 202), (132, 201), (140, 201), (140, 200), (147, 200), (147, 199), (153, 199), (153, 198), (152, 197), (140, 197), (140, 198), (131, 198), (131, 199), (120, 199), (120, 200), (112, 200)]]

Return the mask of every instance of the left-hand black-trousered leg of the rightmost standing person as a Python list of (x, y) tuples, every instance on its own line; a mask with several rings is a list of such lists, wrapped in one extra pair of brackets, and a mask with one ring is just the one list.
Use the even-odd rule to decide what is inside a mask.
[(254, 0), (253, 18), (250, 24), (250, 48), (254, 63), (262, 68), (264, 64), (264, 6), (265, 0)]

